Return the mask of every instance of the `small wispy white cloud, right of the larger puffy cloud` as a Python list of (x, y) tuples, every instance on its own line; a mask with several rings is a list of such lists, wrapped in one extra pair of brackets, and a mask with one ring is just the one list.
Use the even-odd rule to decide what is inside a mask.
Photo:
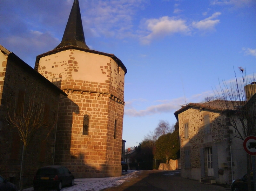
[(201, 21), (193, 21), (192, 26), (199, 30), (212, 30), (212, 29), (214, 29), (216, 24), (220, 23), (220, 20), (215, 19), (219, 15), (221, 15), (221, 12), (216, 12), (213, 15), (211, 15), (210, 17), (208, 17), (204, 20), (201, 20)]

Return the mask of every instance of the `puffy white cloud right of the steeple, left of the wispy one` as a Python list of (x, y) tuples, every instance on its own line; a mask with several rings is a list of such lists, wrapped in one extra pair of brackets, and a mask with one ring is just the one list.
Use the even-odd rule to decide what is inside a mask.
[(141, 37), (142, 44), (149, 44), (152, 39), (172, 35), (174, 33), (189, 34), (189, 28), (186, 21), (175, 19), (175, 17), (163, 16), (160, 19), (148, 19), (146, 26), (149, 35)]

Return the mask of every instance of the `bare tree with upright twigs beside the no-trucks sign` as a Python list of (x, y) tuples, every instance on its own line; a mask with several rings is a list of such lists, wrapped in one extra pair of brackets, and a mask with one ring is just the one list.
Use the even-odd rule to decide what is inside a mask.
[[(244, 69), (239, 67), (242, 72), (242, 78), (238, 79), (235, 73), (235, 81), (223, 81), (224, 87), (221, 86), (221, 92), (216, 90), (216, 97), (223, 109), (228, 112), (229, 126), (233, 127), (233, 136), (244, 140), (249, 135), (255, 135), (256, 110), (250, 98), (255, 94), (254, 76), (249, 78)], [(248, 188), (251, 191), (250, 184), (250, 155), (247, 154), (247, 177)]]

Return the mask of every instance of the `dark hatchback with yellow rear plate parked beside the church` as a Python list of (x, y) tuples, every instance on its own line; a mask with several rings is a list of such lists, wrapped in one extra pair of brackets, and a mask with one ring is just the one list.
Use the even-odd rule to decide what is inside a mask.
[(75, 178), (71, 172), (62, 166), (46, 166), (38, 169), (34, 177), (34, 190), (41, 187), (55, 187), (61, 190), (62, 186), (74, 186)]

